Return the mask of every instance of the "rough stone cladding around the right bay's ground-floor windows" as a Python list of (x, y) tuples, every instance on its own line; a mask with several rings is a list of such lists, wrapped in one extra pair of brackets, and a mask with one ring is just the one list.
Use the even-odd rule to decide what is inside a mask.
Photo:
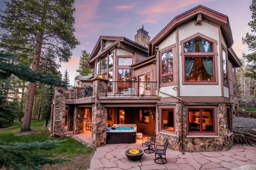
[[(179, 109), (175, 108), (176, 111)], [(233, 133), (227, 130), (226, 104), (219, 104), (217, 108), (218, 134), (209, 138), (187, 138), (186, 108), (183, 106), (183, 149), (181, 141), (181, 112), (175, 113), (175, 135), (158, 133), (158, 141), (169, 139), (169, 148), (177, 151), (225, 151), (234, 145)], [(157, 118), (159, 120), (159, 118)], [(158, 124), (158, 122), (156, 122)], [(163, 143), (161, 143), (163, 145)]]

